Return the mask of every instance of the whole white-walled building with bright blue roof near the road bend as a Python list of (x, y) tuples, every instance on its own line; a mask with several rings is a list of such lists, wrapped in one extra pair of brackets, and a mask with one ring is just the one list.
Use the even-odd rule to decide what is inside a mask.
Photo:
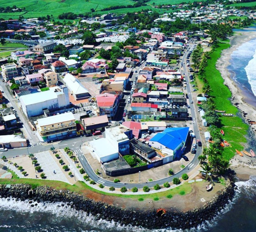
[(150, 139), (149, 145), (160, 150), (166, 164), (181, 157), (188, 136), (189, 127), (166, 128)]

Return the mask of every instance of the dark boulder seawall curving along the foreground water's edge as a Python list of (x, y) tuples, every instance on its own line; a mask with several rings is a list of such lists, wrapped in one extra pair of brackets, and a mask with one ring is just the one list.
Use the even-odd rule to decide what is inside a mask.
[(123, 209), (104, 202), (96, 202), (90, 198), (71, 192), (69, 190), (55, 190), (47, 186), (39, 186), (29, 195), (31, 186), (28, 184), (1, 184), (0, 197), (16, 198), (17, 200), (30, 200), (29, 204), (34, 207), (39, 202), (59, 202), (70, 205), (76, 210), (83, 210), (96, 216), (96, 220), (105, 219), (116, 221), (120, 224), (131, 224), (132, 226), (143, 226), (148, 229), (162, 229), (172, 227), (177, 229), (189, 229), (198, 226), (203, 221), (210, 220), (223, 209), (229, 201), (232, 201), (235, 194), (235, 184), (228, 180), (226, 187), (212, 201), (207, 202), (201, 208), (195, 208), (186, 212), (169, 211), (162, 217), (157, 217), (155, 210)]

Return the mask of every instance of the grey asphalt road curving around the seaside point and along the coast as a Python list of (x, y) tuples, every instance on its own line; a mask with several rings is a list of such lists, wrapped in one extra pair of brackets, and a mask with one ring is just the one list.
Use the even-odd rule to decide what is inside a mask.
[[(188, 91), (188, 95), (189, 95), (189, 102), (192, 99), (192, 94), (191, 94), (191, 88), (190, 88), (190, 82), (189, 82), (189, 73), (186, 69), (186, 63), (184, 63), (185, 58), (186, 58), (186, 54), (188, 53), (188, 51), (186, 51), (186, 53), (183, 55), (182, 58), (182, 62), (184, 64), (183, 69), (184, 69), (184, 73), (186, 74), (186, 82), (187, 82), (187, 91)], [(194, 133), (196, 138), (200, 138), (200, 133), (199, 133), (199, 129), (198, 129), (198, 123), (197, 123), (197, 119), (196, 119), (196, 112), (195, 112), (195, 107), (194, 104), (190, 104), (191, 107), (191, 116), (192, 116), (192, 121), (193, 121), (193, 129), (194, 129)], [(175, 173), (172, 176), (160, 179), (160, 180), (156, 180), (156, 181), (151, 181), (151, 182), (145, 182), (145, 183), (134, 183), (134, 184), (130, 184), (130, 183), (114, 183), (113, 181), (108, 181), (104, 178), (99, 177), (98, 175), (96, 175), (96, 173), (94, 173), (92, 167), (90, 166), (90, 164), (88, 163), (87, 159), (84, 157), (83, 153), (81, 153), (81, 149), (76, 149), (81, 147), (82, 143), (85, 141), (89, 141), (91, 140), (91, 137), (78, 137), (78, 138), (73, 138), (73, 139), (67, 139), (58, 143), (53, 143), (53, 144), (46, 144), (44, 145), (35, 145), (32, 147), (27, 147), (27, 148), (23, 148), (23, 149), (13, 149), (13, 150), (8, 150), (5, 153), (2, 153), (1, 156), (6, 156), (7, 158), (12, 157), (12, 156), (17, 156), (17, 155), (22, 155), (22, 154), (29, 154), (29, 153), (37, 153), (37, 152), (41, 152), (44, 150), (50, 150), (50, 148), (52, 146), (56, 146), (56, 144), (58, 144), (58, 148), (64, 148), (64, 147), (70, 147), (71, 150), (74, 150), (77, 157), (79, 158), (79, 161), (81, 162), (81, 165), (83, 166), (84, 170), (86, 171), (87, 175), (89, 175), (89, 177), (98, 182), (99, 184), (103, 184), (105, 186), (108, 187), (115, 187), (115, 188), (122, 188), (122, 187), (127, 187), (128, 189), (131, 189), (133, 187), (137, 187), (137, 188), (143, 188), (145, 185), (148, 187), (154, 187), (154, 185), (159, 184), (159, 185), (163, 185), (165, 182), (172, 182), (173, 178), (178, 177), (181, 178), (181, 176), (184, 173), (187, 173), (189, 168), (187, 168), (188, 166), (186, 166), (183, 170), (180, 170), (178, 173)], [(23, 151), (23, 152), (21, 152)], [(197, 146), (197, 153), (195, 154), (193, 160), (189, 163), (189, 164), (194, 164), (193, 167), (196, 167), (197, 164), (199, 163), (198, 161), (198, 156), (200, 156), (202, 154), (202, 147), (198, 147)], [(138, 173), (139, 175), (139, 173)]]

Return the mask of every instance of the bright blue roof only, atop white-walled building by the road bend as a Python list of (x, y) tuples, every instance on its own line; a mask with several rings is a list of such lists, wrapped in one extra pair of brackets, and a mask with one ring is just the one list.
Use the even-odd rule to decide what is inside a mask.
[(171, 150), (175, 150), (182, 142), (186, 142), (189, 127), (166, 128), (157, 133), (150, 141), (159, 142)]

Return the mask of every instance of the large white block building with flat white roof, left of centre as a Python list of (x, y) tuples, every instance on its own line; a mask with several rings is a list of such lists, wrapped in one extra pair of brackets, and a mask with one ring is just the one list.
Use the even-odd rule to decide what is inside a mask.
[(49, 91), (20, 96), (20, 108), (28, 117), (42, 115), (43, 110), (58, 110), (70, 104), (68, 89), (52, 87)]

